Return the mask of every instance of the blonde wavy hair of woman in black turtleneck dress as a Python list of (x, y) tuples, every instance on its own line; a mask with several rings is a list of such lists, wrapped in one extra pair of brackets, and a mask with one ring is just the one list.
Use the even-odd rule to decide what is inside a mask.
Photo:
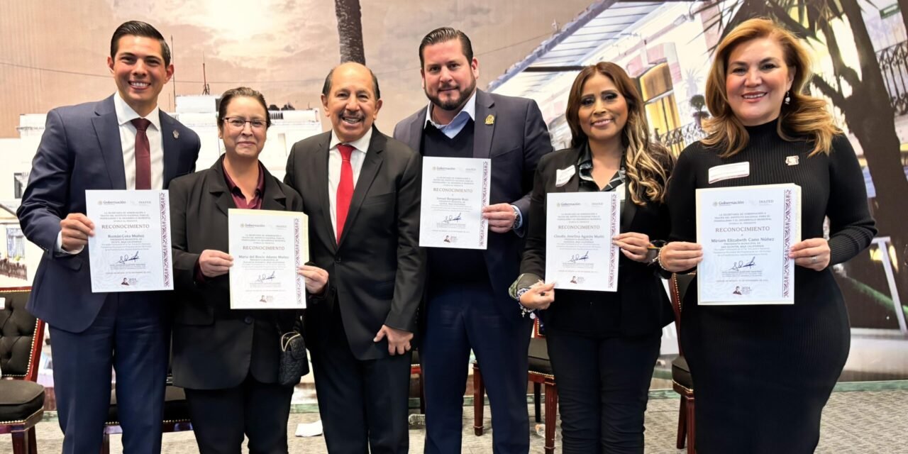
[(744, 124), (732, 112), (725, 92), (725, 76), (728, 71), (728, 57), (735, 48), (748, 41), (769, 38), (782, 47), (788, 70), (795, 71), (792, 81), (791, 102), (782, 104), (777, 132), (788, 142), (804, 137), (814, 144), (810, 153), (828, 154), (832, 148), (833, 136), (842, 133), (833, 122), (833, 116), (826, 108), (826, 101), (804, 94), (804, 85), (813, 75), (810, 69), (810, 54), (801, 41), (782, 25), (766, 18), (749, 19), (736, 26), (716, 47), (716, 56), (706, 80), (706, 107), (713, 118), (704, 120), (708, 134), (701, 140), (707, 146), (724, 149), (722, 157), (732, 156), (741, 150), (750, 139)]

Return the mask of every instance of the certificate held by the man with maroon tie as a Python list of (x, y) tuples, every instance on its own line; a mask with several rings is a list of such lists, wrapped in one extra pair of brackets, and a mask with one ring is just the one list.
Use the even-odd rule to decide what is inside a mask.
[(173, 290), (166, 191), (85, 191), (92, 292)]

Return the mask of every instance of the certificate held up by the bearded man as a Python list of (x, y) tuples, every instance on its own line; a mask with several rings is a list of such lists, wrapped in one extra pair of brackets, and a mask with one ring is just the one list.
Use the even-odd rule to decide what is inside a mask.
[(433, 158), (422, 160), (419, 246), (486, 249), (491, 160)]

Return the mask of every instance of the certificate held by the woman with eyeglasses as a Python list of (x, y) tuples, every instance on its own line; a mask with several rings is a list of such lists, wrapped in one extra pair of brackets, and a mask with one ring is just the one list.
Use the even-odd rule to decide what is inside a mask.
[(304, 309), (309, 260), (308, 218), (301, 212), (227, 212), (231, 309)]

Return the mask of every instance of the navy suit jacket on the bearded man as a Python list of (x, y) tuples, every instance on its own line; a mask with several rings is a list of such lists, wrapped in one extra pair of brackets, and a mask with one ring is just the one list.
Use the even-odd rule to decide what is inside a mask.
[[(426, 109), (400, 121), (394, 138), (422, 151), (422, 131)], [(476, 91), (476, 114), (473, 122), (473, 158), (492, 161), (489, 204), (510, 203), (520, 209), (525, 230), (529, 223), (529, 197), (533, 175), (539, 159), (552, 151), (548, 127), (535, 101), (526, 98)], [(523, 238), (516, 232), (489, 235), (489, 247), (483, 252), (489, 280), (499, 301), (506, 301), (508, 286), (517, 279)], [(505, 313), (519, 313), (509, 301)]]

